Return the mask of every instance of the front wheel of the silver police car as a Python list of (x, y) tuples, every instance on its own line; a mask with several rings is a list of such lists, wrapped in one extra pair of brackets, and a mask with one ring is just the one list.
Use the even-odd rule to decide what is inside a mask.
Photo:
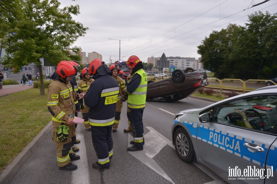
[(194, 149), (191, 138), (184, 128), (178, 128), (174, 134), (174, 145), (177, 155), (184, 162), (193, 162)]

